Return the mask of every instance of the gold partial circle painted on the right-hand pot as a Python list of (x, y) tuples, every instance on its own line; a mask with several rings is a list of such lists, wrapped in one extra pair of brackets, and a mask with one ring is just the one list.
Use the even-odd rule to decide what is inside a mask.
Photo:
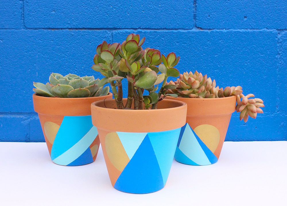
[(215, 152), (220, 140), (220, 133), (216, 127), (204, 124), (195, 127), (193, 131), (212, 152)]

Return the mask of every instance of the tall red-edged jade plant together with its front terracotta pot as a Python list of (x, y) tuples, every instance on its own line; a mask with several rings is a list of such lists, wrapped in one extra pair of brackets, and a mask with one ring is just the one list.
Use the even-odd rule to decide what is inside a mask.
[[(129, 193), (164, 187), (187, 110), (183, 102), (164, 100), (166, 95), (177, 96), (165, 93), (176, 88), (166, 82), (170, 76), (179, 76), (174, 68), (179, 57), (143, 49), (144, 41), (135, 34), (122, 44), (103, 41), (92, 66), (105, 76), (103, 81), (111, 85), (115, 97), (91, 105), (92, 121), (98, 128), (112, 185)], [(127, 98), (123, 98), (123, 79), (127, 79)]]

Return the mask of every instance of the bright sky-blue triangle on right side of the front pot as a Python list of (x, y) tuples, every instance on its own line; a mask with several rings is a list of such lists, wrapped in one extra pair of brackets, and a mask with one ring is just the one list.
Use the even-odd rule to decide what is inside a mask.
[(181, 128), (161, 132), (148, 132), (154, 148), (164, 185), (169, 175)]

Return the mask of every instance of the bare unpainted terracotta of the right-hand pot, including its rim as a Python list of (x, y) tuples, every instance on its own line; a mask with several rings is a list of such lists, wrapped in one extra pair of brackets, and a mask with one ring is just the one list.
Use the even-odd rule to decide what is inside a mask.
[(219, 158), (232, 113), (235, 111), (236, 96), (224, 98), (173, 98), (187, 104), (186, 122), (192, 129), (203, 124), (216, 127), (220, 133), (219, 144), (214, 155)]

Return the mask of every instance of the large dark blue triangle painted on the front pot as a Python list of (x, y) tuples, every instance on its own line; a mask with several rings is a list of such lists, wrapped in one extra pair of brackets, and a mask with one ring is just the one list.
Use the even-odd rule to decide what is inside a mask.
[(164, 187), (160, 167), (148, 135), (129, 161), (114, 186), (117, 190), (144, 194)]

